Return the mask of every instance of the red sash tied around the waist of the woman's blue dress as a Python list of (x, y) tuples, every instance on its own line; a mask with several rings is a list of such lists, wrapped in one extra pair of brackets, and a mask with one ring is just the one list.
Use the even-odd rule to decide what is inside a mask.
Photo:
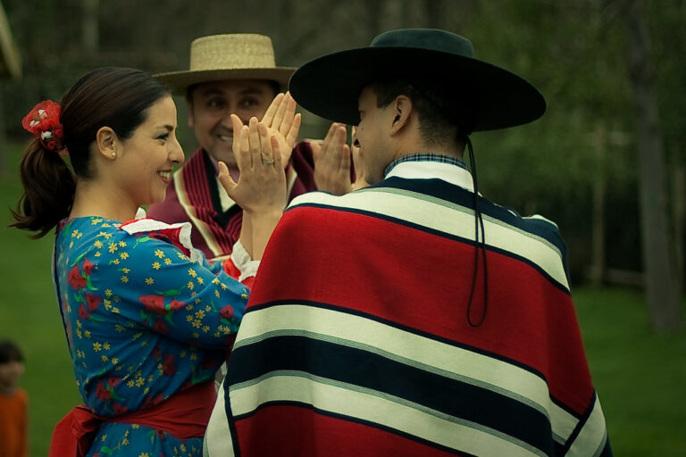
[(152, 408), (112, 418), (98, 416), (81, 404), (54, 427), (48, 457), (85, 456), (103, 422), (139, 424), (181, 439), (204, 436), (215, 400), (214, 383), (207, 381), (171, 395)]

